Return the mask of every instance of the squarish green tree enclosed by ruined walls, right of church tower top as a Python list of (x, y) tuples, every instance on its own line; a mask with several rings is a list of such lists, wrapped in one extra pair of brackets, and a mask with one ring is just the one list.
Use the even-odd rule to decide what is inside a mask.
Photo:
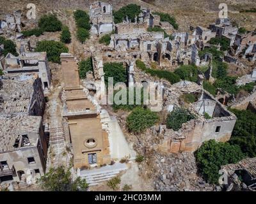
[(114, 85), (117, 82), (126, 82), (126, 69), (123, 63), (120, 62), (107, 62), (103, 65), (105, 84), (108, 85), (108, 78), (113, 77)]

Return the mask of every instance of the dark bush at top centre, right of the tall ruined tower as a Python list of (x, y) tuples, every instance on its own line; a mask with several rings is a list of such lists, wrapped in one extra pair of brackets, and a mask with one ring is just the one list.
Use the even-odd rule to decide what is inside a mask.
[(132, 21), (135, 21), (135, 17), (140, 14), (140, 6), (136, 4), (128, 4), (127, 6), (123, 6), (118, 11), (113, 11), (115, 24), (123, 22), (126, 16)]

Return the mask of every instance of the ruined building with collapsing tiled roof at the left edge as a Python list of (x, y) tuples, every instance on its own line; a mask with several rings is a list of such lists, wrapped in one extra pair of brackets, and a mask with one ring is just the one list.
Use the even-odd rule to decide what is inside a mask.
[(2, 79), (1, 83), (0, 180), (40, 177), (47, 160), (41, 80), (27, 76), (20, 80)]

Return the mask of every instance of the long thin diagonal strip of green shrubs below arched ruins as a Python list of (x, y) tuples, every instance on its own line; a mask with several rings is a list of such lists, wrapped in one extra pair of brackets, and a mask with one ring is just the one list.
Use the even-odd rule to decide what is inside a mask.
[(136, 67), (150, 74), (152, 77), (164, 78), (172, 84), (175, 84), (180, 81), (179, 75), (176, 75), (171, 71), (147, 68), (145, 63), (140, 60), (136, 61)]

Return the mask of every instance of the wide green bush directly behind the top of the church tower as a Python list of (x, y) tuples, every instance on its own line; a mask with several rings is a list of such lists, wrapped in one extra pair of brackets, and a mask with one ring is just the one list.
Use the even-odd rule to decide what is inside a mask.
[(47, 52), (47, 58), (51, 62), (60, 63), (60, 54), (68, 52), (65, 44), (54, 40), (43, 40), (36, 43), (36, 52)]

